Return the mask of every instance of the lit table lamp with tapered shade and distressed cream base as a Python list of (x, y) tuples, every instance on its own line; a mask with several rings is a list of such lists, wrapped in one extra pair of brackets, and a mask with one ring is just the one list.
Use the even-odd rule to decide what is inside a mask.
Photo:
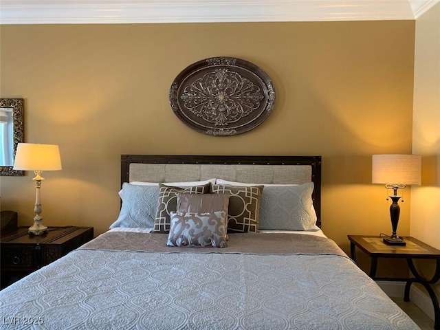
[(19, 143), (14, 159), (14, 170), (33, 170), (35, 177), (35, 217), (34, 225), (30, 226), (29, 233), (34, 235), (47, 232), (47, 226), (43, 225), (41, 217), (40, 188), (43, 170), (61, 170), (60, 151), (55, 144)]

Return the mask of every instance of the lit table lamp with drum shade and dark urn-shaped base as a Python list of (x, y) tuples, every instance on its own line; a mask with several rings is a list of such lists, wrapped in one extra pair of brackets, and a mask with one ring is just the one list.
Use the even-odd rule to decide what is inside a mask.
[(385, 184), (386, 189), (393, 189), (393, 195), (389, 196), (393, 200), (390, 206), (393, 234), (385, 237), (384, 243), (406, 245), (404, 239), (397, 236), (401, 197), (397, 195), (397, 190), (420, 184), (421, 157), (419, 155), (373, 155), (372, 169), (373, 184)]

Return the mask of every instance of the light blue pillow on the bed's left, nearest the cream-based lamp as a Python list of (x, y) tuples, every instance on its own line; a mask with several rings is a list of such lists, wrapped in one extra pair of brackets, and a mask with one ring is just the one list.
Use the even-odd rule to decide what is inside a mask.
[(159, 205), (159, 186), (122, 184), (122, 207), (111, 228), (154, 228)]

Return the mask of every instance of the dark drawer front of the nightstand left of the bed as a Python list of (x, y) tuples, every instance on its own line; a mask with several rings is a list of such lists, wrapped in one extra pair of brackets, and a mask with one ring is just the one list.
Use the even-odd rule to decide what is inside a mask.
[(9, 245), (1, 249), (1, 270), (36, 267), (36, 250), (41, 245)]

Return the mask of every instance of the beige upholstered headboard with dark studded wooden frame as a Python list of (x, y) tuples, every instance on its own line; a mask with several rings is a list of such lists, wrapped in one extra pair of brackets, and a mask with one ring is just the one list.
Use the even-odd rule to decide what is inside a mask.
[(321, 156), (121, 155), (121, 186), (212, 178), (255, 184), (313, 181), (316, 225), (321, 227)]

